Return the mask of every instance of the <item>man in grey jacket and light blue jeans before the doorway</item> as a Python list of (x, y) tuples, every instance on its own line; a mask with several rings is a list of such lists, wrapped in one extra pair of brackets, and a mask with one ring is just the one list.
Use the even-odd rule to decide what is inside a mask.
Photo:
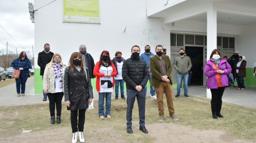
[(173, 62), (173, 68), (178, 72), (177, 73), (177, 94), (174, 98), (178, 98), (181, 93), (181, 82), (183, 79), (184, 83), (184, 97), (189, 98), (188, 96), (188, 79), (189, 79), (189, 70), (192, 67), (191, 60), (188, 56), (184, 56), (185, 50), (180, 49), (180, 55), (175, 57)]

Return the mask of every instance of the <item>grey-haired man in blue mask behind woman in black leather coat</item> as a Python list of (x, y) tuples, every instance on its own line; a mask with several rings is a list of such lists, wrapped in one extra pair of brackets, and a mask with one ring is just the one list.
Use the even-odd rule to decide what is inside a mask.
[(82, 55), (83, 65), (84, 67), (87, 67), (90, 74), (90, 79), (94, 79), (96, 76), (93, 75), (93, 69), (94, 69), (94, 60), (91, 56), (91, 54), (87, 53), (85, 45), (79, 46), (79, 52)]

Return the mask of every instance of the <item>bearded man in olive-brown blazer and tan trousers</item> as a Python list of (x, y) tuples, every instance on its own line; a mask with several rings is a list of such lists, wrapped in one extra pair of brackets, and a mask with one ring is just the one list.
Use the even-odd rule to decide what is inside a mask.
[(173, 87), (172, 87), (172, 63), (168, 55), (163, 55), (163, 46), (156, 46), (156, 55), (150, 58), (150, 67), (152, 72), (151, 85), (155, 87), (157, 95), (157, 107), (159, 122), (164, 121), (164, 103), (163, 96), (165, 92), (169, 117), (175, 121), (179, 119), (174, 115), (173, 106)]

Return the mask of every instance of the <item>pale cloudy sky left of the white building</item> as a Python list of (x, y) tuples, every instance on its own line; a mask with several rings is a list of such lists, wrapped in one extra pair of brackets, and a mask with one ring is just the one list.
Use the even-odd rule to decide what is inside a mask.
[[(21, 45), (13, 40), (0, 27), (0, 51), (6, 54), (6, 43), (8, 41), (8, 53), (18, 55), (26, 51), (28, 57), (33, 57), (32, 45), (34, 45), (34, 23), (30, 20), (28, 2), (34, 4), (34, 0), (0, 0), (0, 25)], [(23, 47), (23, 48), (22, 48)]]

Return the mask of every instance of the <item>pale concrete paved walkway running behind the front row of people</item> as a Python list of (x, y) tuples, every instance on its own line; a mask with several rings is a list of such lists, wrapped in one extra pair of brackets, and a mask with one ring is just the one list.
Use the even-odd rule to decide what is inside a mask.
[[(1, 84), (1, 82), (0, 82)], [(202, 98), (206, 98), (206, 89), (205, 86), (189, 86), (189, 95), (199, 96)], [(251, 108), (256, 108), (256, 88), (246, 87), (245, 90), (237, 90), (236, 88), (225, 89), (225, 92), (222, 97), (223, 102), (234, 103), (238, 105), (243, 105)], [(176, 89), (173, 90), (173, 95), (176, 94)], [(181, 89), (181, 94), (183, 94), (183, 89)], [(30, 103), (45, 103), (49, 102), (42, 101), (42, 94), (34, 94), (34, 76), (28, 78), (26, 83), (26, 96), (18, 97), (16, 94), (16, 84), (10, 84), (3, 88), (0, 88), (0, 106), (4, 105), (22, 105), (22, 104), (30, 104)], [(94, 100), (98, 100), (98, 93), (93, 92)], [(126, 91), (125, 91), (126, 96)], [(150, 96), (149, 91), (147, 92), (147, 96)], [(115, 99), (115, 92), (112, 92), (112, 99)], [(182, 95), (179, 98), (184, 98)], [(178, 99), (179, 99), (178, 98)], [(121, 98), (119, 100), (122, 100)], [(174, 99), (175, 102), (176, 99)], [(64, 98), (63, 98), (64, 101)]]

